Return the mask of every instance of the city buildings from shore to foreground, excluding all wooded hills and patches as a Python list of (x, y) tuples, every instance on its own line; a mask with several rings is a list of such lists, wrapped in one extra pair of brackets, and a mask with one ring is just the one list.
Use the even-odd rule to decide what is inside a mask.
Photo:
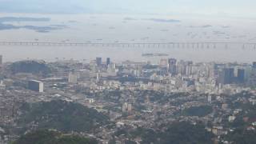
[[(117, 126), (111, 129), (102, 127), (94, 134), (105, 141), (113, 138), (120, 127), (157, 129), (162, 123), (181, 119), (212, 122), (214, 126), (209, 130), (222, 135), (228, 131), (222, 125), (226, 115), (229, 122), (236, 118), (236, 110), (230, 110), (227, 104), (230, 99), (225, 95), (253, 91), (256, 86), (256, 62), (192, 62), (162, 58), (158, 64), (151, 64), (102, 59), (48, 62), (47, 65), (54, 70), (47, 77), (42, 74), (11, 74), (6, 69), (9, 63), (3, 64), (0, 98), (4, 101), (0, 102), (0, 120), (4, 125), (14, 125), (14, 119), (18, 117), (14, 110), (18, 110), (18, 104), (22, 102), (62, 99), (107, 114)], [(242, 100), (255, 104), (255, 95)], [(235, 100), (240, 102), (241, 98)], [(214, 106), (216, 102), (221, 107)], [(214, 107), (217, 116), (214, 112), (203, 118), (175, 116), (178, 111), (205, 105)], [(0, 135), (1, 130), (0, 127)], [(126, 138), (119, 138), (119, 141), (122, 143), (123, 139)]]

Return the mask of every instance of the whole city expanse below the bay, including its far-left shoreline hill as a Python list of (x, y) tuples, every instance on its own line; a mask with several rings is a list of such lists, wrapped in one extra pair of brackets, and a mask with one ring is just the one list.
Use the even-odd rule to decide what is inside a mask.
[[(175, 58), (162, 58), (158, 64), (112, 62), (110, 58), (2, 62), (2, 58), (0, 143), (18, 138), (14, 131), (20, 128), (22, 104), (54, 100), (79, 103), (110, 118), (111, 126), (80, 132), (101, 143), (113, 139), (139, 143), (141, 136), (128, 138), (126, 134), (138, 127), (164, 131), (165, 125), (183, 121), (201, 123), (214, 135), (214, 142), (224, 143), (229, 143), (224, 137), (238, 129), (235, 122), (240, 119), (246, 130), (256, 128), (256, 115), (248, 115), (251, 110), (246, 107), (256, 104), (256, 62)], [(28, 125), (26, 131), (39, 124)]]

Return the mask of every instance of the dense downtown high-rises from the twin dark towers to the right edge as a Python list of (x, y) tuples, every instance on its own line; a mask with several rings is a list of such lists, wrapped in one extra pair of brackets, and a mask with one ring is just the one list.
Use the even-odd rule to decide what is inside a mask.
[[(254, 63), (255, 65), (255, 63)], [(102, 58), (90, 62), (96, 83), (94, 89), (102, 90), (106, 83), (119, 83), (121, 89), (201, 91), (222, 93), (226, 90), (241, 90), (254, 86), (255, 66), (238, 63), (178, 61), (175, 58), (163, 58), (158, 65), (150, 62), (110, 62), (102, 63)], [(70, 78), (71, 79), (71, 78)], [(75, 78), (76, 79), (76, 78)], [(120, 83), (120, 79), (126, 82)], [(134, 81), (132, 80), (134, 79)], [(124, 86), (125, 84), (125, 86)], [(115, 86), (116, 87), (116, 86)]]

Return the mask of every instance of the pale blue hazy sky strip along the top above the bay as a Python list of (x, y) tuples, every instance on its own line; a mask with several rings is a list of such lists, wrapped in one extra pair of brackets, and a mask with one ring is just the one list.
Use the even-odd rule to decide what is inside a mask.
[(2, 12), (211, 14), (256, 17), (255, 0), (0, 0)]

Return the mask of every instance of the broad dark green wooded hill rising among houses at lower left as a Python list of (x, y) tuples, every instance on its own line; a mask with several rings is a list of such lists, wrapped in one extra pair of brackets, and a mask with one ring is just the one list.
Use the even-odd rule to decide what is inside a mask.
[(89, 132), (109, 122), (109, 118), (97, 110), (62, 100), (26, 103), (21, 110), (23, 114), (18, 119), (18, 126), (25, 130), (36, 124), (38, 129)]

